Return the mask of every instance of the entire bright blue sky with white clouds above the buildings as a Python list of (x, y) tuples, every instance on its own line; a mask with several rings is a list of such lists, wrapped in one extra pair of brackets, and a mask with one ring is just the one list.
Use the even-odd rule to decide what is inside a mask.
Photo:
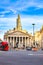
[(22, 28), (32, 33), (43, 25), (43, 0), (0, 0), (0, 38), (4, 33), (16, 26), (17, 15), (20, 14)]

